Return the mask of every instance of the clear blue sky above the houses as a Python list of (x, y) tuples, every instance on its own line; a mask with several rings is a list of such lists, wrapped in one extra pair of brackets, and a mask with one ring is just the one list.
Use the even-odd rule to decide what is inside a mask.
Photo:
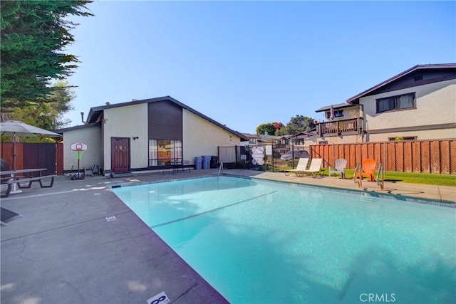
[[(91, 107), (170, 95), (227, 127), (344, 103), (417, 64), (456, 62), (455, 1), (96, 1), (73, 18)], [(134, 120), (134, 117), (130, 117)]]

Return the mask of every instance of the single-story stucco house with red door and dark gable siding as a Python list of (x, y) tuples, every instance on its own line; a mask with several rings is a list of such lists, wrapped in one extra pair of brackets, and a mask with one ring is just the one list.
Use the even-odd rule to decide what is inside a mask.
[(90, 108), (84, 125), (57, 132), (63, 135), (65, 172), (78, 163), (71, 144), (82, 142), (88, 150), (80, 167), (98, 164), (105, 175), (160, 169), (172, 162), (192, 166), (195, 157), (217, 156), (218, 147), (248, 140), (170, 96)]

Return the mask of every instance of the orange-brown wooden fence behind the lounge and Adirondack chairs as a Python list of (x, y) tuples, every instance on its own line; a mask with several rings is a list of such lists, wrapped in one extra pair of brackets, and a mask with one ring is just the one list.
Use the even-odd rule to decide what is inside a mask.
[(311, 157), (321, 157), (324, 167), (338, 158), (355, 169), (363, 159), (373, 158), (385, 171), (456, 174), (456, 139), (363, 142), (359, 144), (312, 145)]

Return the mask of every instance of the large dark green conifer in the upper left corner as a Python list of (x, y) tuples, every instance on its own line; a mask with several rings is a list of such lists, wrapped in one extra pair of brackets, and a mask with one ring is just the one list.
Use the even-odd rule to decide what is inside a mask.
[(55, 87), (77, 67), (78, 58), (64, 53), (73, 43), (69, 32), (78, 23), (64, 18), (93, 16), (86, 11), (92, 0), (1, 1), (2, 112), (46, 103)]

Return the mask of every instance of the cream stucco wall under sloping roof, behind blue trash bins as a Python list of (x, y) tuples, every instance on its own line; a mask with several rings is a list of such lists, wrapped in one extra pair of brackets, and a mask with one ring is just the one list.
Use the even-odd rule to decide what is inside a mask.
[[(182, 110), (183, 157), (195, 164), (195, 157), (218, 155), (217, 147), (239, 146), (240, 138), (192, 112)], [(225, 159), (234, 162), (233, 159)]]

